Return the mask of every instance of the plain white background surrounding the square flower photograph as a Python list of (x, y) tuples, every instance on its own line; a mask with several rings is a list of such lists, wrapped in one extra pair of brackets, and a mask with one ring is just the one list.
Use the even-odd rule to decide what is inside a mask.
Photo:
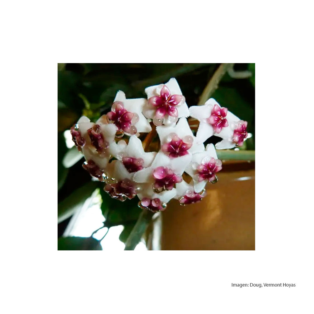
[[(114, 3), (2, 4), (1, 312), (310, 313), (310, 2)], [(57, 62), (256, 62), (256, 250), (58, 252)]]

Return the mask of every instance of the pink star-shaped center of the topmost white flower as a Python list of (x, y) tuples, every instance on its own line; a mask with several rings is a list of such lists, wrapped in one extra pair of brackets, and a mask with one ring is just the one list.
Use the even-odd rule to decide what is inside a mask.
[(171, 95), (170, 90), (166, 85), (160, 90), (160, 96), (153, 96), (148, 99), (149, 104), (157, 108), (155, 118), (161, 119), (166, 114), (169, 116), (177, 117), (177, 106), (184, 97), (182, 95)]

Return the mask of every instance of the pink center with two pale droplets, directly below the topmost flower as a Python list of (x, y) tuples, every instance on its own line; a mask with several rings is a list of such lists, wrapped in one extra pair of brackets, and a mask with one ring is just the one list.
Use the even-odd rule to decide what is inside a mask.
[(169, 153), (170, 158), (176, 158), (188, 154), (188, 149), (192, 147), (192, 136), (185, 136), (183, 140), (176, 133), (170, 133), (166, 140), (167, 143), (161, 146), (164, 153)]

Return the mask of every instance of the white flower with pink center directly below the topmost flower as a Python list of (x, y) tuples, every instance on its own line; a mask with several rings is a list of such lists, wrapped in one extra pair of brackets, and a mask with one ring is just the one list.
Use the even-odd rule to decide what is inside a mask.
[(177, 158), (204, 150), (202, 143), (196, 143), (186, 118), (180, 118), (176, 126), (156, 127), (161, 150), (170, 158)]

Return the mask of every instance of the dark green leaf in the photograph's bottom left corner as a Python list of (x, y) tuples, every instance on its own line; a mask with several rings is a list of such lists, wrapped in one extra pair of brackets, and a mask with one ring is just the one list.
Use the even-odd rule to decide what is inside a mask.
[(98, 240), (94, 238), (82, 238), (78, 236), (61, 237), (58, 239), (58, 251), (92, 251), (102, 250)]

